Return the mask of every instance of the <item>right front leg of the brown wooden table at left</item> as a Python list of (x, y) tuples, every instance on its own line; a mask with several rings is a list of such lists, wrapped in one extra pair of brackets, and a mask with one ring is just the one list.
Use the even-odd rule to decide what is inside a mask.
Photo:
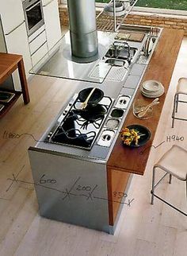
[(18, 72), (19, 72), (19, 76), (20, 76), (21, 89), (22, 89), (24, 103), (28, 104), (30, 101), (30, 98), (29, 98), (28, 83), (27, 83), (26, 76), (25, 76), (25, 67), (24, 67), (23, 59), (21, 59), (17, 63), (17, 68), (18, 68)]

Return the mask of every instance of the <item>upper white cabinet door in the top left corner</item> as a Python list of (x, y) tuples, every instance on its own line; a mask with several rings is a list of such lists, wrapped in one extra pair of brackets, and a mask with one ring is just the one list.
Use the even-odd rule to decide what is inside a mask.
[(21, 0), (1, 0), (0, 13), (5, 34), (11, 33), (13, 29), (25, 21)]

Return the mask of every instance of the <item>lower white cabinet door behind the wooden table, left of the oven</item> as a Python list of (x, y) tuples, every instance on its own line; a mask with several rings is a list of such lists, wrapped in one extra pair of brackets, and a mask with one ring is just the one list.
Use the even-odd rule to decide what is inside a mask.
[[(29, 52), (29, 42), (25, 27), (25, 22), (14, 29), (12, 33), (5, 35), (7, 52), (21, 54), (25, 64), (25, 72), (28, 76), (32, 68), (31, 56)], [(16, 89), (20, 89), (19, 76), (17, 71), (13, 72), (13, 82)]]

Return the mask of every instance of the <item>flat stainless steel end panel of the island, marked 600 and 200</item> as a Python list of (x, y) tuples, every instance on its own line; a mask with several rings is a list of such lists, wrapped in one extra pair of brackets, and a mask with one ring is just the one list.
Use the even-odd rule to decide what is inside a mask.
[(105, 165), (29, 149), (40, 215), (109, 232)]

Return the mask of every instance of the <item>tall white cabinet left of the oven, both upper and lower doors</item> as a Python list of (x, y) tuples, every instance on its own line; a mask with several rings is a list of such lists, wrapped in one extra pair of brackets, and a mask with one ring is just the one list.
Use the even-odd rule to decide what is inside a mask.
[[(29, 70), (32, 68), (32, 63), (22, 1), (0, 1), (0, 13), (2, 17), (2, 27), (6, 40), (7, 52), (23, 56), (26, 76), (29, 76)], [(15, 89), (21, 89), (17, 71), (13, 72), (13, 83)]]

